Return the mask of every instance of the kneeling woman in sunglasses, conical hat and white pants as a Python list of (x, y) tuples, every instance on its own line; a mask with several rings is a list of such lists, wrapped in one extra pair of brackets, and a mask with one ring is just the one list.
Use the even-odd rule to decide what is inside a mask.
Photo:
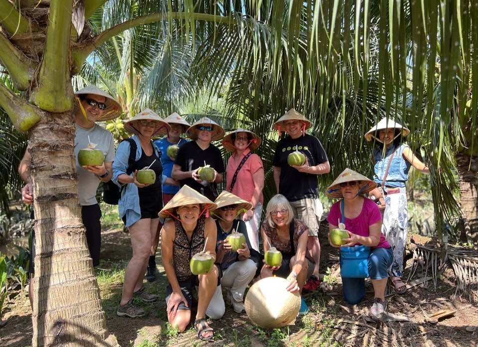
[[(218, 239), (216, 246), (216, 264), (222, 271), (221, 285), (230, 288), (227, 302), (234, 311), (244, 311), (244, 291), (254, 278), (260, 261), (260, 254), (251, 247), (244, 221), (236, 219), (239, 214), (248, 211), (252, 205), (238, 196), (223, 191), (215, 201), (218, 208), (214, 214), (218, 217)], [(244, 235), (245, 243), (237, 251), (232, 250), (228, 235), (238, 232)], [(222, 292), (219, 292), (222, 295)]]

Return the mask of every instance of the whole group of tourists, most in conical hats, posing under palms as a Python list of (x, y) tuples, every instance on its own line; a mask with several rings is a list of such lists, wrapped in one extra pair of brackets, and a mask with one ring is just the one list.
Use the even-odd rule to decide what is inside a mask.
[[(312, 126), (309, 119), (292, 109), (274, 123), (282, 136), (273, 160), (278, 194), (263, 211), (264, 165), (253, 153), (261, 139), (252, 131), (239, 128), (226, 135), (220, 124), (207, 117), (189, 124), (177, 113), (163, 119), (146, 109), (125, 120), (124, 128), (132, 136), (121, 141), (115, 153), (111, 132), (97, 122), (119, 116), (119, 104), (95, 86), (78, 91), (76, 97), (75, 155), (88, 142), (96, 143), (96, 149), (105, 155), (102, 165), (80, 166), (78, 160), (76, 165), (82, 218), (93, 265), (100, 260), (101, 210), (96, 200), (100, 181), (111, 180), (118, 187), (119, 216), (131, 239), (132, 257), (124, 275), (119, 316), (145, 315), (133, 298), (144, 302), (159, 299), (143, 286), (145, 276), (148, 281), (155, 280), (159, 241), (169, 281), (165, 298), (168, 320), (184, 331), (194, 308), (194, 326), (201, 340), (211, 340), (214, 336), (206, 317), (220, 319), (225, 304), (238, 313), (244, 310), (244, 291), (254, 280), (275, 275), (287, 278), (286, 289), (291, 292), (318, 289), (318, 233), (323, 207), (317, 175), (329, 173), (330, 164), (321, 142), (306, 132)], [(183, 133), (185, 137), (181, 136)], [(401, 276), (407, 240), (408, 171), (413, 165), (428, 172), (410, 147), (402, 143), (408, 133), (407, 128), (393, 120), (382, 119), (365, 134), (375, 146), (374, 178), (346, 169), (326, 190), (328, 196), (338, 199), (327, 218), (329, 229), (347, 230), (349, 237), (344, 240), (344, 247), (364, 245), (371, 249), (368, 272), (375, 299), (370, 314), (376, 317), (385, 310), (389, 277), (398, 293), (406, 290)], [(154, 140), (157, 136), (164, 137)], [(226, 167), (213, 141), (222, 141), (223, 147), (231, 152)], [(179, 149), (169, 151), (170, 146)], [(288, 156), (294, 151), (305, 155), (302, 165), (289, 165)], [(29, 166), (27, 151), (19, 167), (26, 182), (22, 190), (26, 203), (34, 198)], [(146, 167), (155, 172), (152, 184), (138, 182), (139, 170)], [(203, 167), (209, 168), (207, 175), (199, 171)], [(224, 179), (226, 190), (218, 194), (218, 184)], [(383, 217), (379, 206), (384, 208)], [(245, 236), (245, 243), (237, 251), (227, 239), (236, 232)], [(270, 247), (282, 253), (280, 266), (264, 263), (263, 253)], [(201, 251), (208, 251), (215, 265), (206, 274), (194, 275), (190, 261)], [(30, 264), (30, 272), (33, 270), (34, 265)], [(351, 304), (359, 303), (365, 296), (364, 278), (343, 277), (342, 282), (344, 299)], [(223, 288), (227, 288), (225, 298)], [(307, 311), (302, 299), (300, 314)]]

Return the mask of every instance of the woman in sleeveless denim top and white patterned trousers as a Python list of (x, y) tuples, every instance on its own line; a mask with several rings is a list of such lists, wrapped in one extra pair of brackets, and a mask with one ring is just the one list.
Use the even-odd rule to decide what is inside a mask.
[[(365, 134), (367, 141), (374, 141), (373, 180), (379, 186), (373, 196), (384, 197), (383, 233), (393, 248), (391, 281), (398, 294), (406, 292), (401, 280), (403, 256), (408, 237), (408, 214), (406, 182), (410, 167), (429, 173), (428, 167), (413, 154), (411, 148), (402, 142), (410, 133), (406, 127), (391, 118), (381, 119)], [(388, 169), (388, 170), (387, 170)], [(383, 188), (382, 188), (383, 186)], [(381, 190), (381, 194), (380, 194)], [(376, 195), (379, 195), (377, 197)]]

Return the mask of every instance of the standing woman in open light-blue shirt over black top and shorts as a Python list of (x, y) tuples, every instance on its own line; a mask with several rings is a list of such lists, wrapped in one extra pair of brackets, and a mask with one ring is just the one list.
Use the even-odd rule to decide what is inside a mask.
[[(157, 295), (146, 293), (143, 278), (158, 228), (158, 212), (163, 206), (161, 185), (174, 181), (162, 174), (159, 150), (151, 141), (152, 136), (169, 130), (168, 123), (153, 111), (145, 109), (126, 120), (124, 128), (133, 136), (119, 143), (113, 163), (113, 181), (121, 187), (119, 217), (128, 228), (133, 255), (124, 273), (117, 315), (135, 318), (146, 313), (133, 304), (133, 297), (143, 302), (158, 299)], [(154, 171), (156, 177), (152, 184), (138, 182), (137, 173), (143, 168)]]

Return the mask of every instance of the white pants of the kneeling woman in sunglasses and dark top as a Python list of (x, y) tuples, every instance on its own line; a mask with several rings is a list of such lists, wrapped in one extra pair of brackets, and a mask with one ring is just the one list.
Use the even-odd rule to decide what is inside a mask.
[(230, 288), (234, 300), (244, 300), (244, 291), (247, 285), (254, 278), (257, 266), (250, 260), (236, 261), (223, 272), (221, 285), (216, 288), (216, 292), (209, 303), (206, 315), (211, 319), (221, 319), (226, 311), (224, 304), (222, 286)]

